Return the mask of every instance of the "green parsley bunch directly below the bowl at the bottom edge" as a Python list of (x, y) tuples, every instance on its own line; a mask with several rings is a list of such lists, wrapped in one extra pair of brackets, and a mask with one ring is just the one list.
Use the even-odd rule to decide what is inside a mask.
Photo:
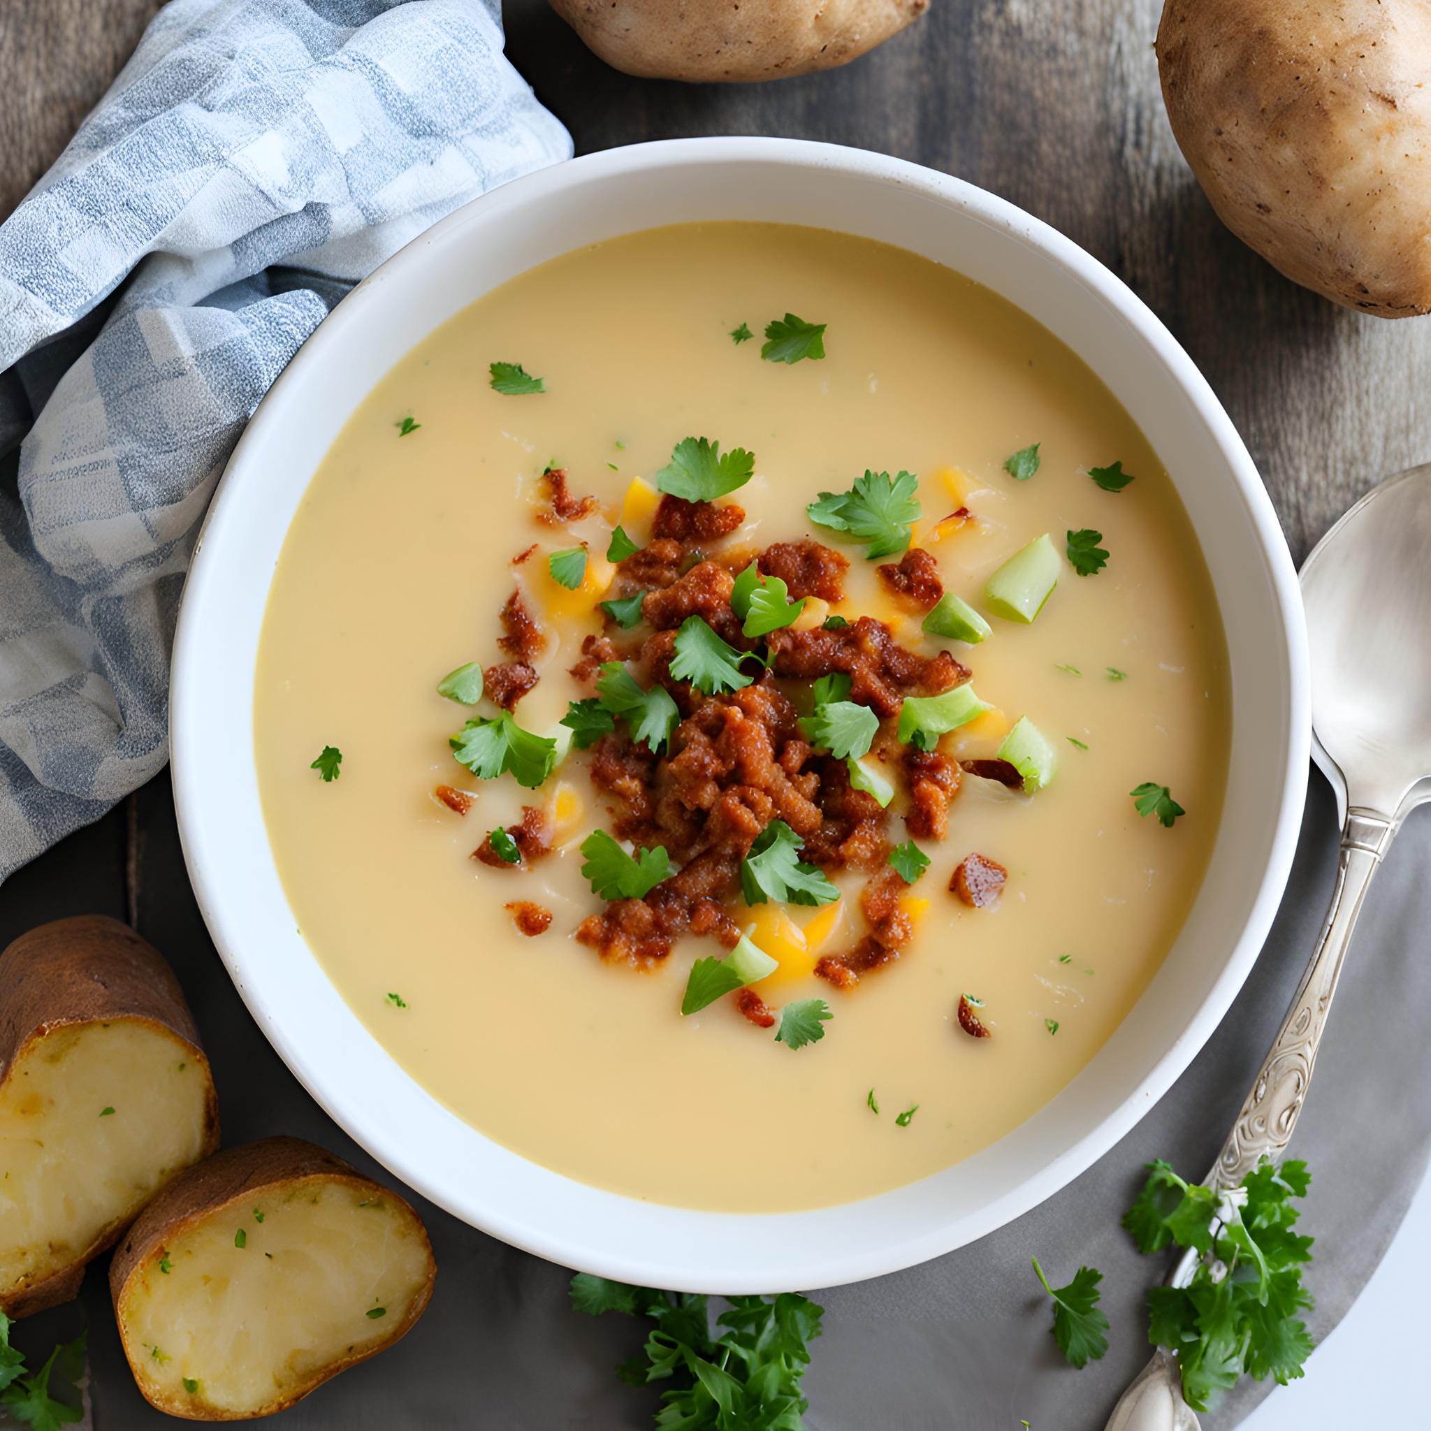
[(655, 1424), (671, 1431), (803, 1431), (810, 1404), (800, 1381), (823, 1308), (797, 1292), (731, 1296), (711, 1335), (705, 1296), (657, 1292), (578, 1272), (571, 1305), (600, 1317), (624, 1312), (654, 1324), (643, 1349), (617, 1375), (633, 1387), (661, 1384)]

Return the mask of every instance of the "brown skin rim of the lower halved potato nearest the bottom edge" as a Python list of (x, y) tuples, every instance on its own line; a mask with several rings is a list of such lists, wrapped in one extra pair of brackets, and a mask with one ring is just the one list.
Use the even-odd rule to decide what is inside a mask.
[[(384, 1198), (404, 1208), (418, 1225), (428, 1248), (428, 1279), (408, 1309), (408, 1315), (392, 1325), (391, 1335), (384, 1341), (368, 1348), (368, 1351), (339, 1358), (322, 1371), (315, 1372), (306, 1385), (288, 1392), (282, 1398), (276, 1398), (258, 1411), (235, 1412), (218, 1407), (206, 1407), (199, 1398), (186, 1397), (179, 1400), (166, 1397), (163, 1392), (146, 1385), (143, 1371), (147, 1357), (145, 1355), (145, 1348), (137, 1348), (136, 1355), (136, 1349), (129, 1345), (124, 1331), (123, 1307), (130, 1281), (143, 1269), (146, 1262), (162, 1255), (169, 1244), (176, 1241), (200, 1218), (207, 1218), (210, 1213), (220, 1212), (230, 1205), (248, 1208), (256, 1193), (272, 1188), (289, 1188), (305, 1179), (345, 1182), (362, 1192), (381, 1193)], [(426, 1311), (428, 1302), (432, 1298), (432, 1282), (436, 1278), (436, 1271), (426, 1226), (405, 1198), (398, 1196), (391, 1188), (365, 1178), (336, 1153), (305, 1142), (302, 1138), (262, 1138), (255, 1143), (226, 1148), (202, 1163), (193, 1163), (155, 1196), (135, 1219), (129, 1235), (114, 1251), (114, 1259), (109, 1266), (109, 1292), (114, 1302), (114, 1321), (119, 1324), (119, 1337), (124, 1347), (124, 1357), (129, 1359), (129, 1369), (135, 1374), (135, 1384), (139, 1387), (140, 1395), (152, 1407), (187, 1421), (250, 1421), (256, 1417), (268, 1417), (275, 1411), (288, 1410), (288, 1407), (302, 1401), (309, 1392), (316, 1391), (325, 1381), (336, 1377), (338, 1372), (346, 1371), (349, 1367), (356, 1367), (358, 1362), (366, 1361), (369, 1357), (386, 1351), (394, 1342), (401, 1341)]]

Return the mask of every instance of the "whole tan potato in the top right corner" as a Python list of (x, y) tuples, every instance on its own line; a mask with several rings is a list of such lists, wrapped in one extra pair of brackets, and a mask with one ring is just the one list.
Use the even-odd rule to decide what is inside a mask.
[(1431, 7), (1166, 0), (1158, 69), (1218, 218), (1286, 278), (1431, 311)]

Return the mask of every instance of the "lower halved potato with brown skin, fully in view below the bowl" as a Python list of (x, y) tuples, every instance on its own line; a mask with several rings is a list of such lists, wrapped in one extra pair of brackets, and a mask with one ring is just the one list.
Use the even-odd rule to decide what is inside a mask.
[(402, 1198), (322, 1148), (265, 1138), (169, 1183), (120, 1244), (109, 1285), (145, 1398), (238, 1421), (391, 1347), (435, 1275)]

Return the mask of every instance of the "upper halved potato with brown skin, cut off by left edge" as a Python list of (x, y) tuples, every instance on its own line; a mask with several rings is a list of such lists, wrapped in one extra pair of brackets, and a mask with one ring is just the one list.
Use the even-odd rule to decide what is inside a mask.
[(189, 1007), (113, 919), (62, 919), (0, 954), (0, 1312), (79, 1291), (84, 1264), (219, 1145)]

